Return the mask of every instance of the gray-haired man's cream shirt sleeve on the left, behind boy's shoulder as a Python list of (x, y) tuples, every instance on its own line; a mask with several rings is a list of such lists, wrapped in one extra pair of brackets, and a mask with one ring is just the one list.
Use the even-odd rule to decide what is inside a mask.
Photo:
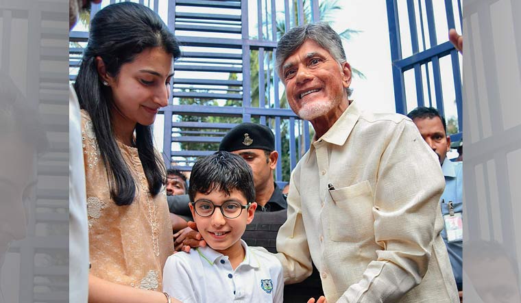
[(302, 222), (298, 189), (300, 174), (297, 171), (298, 168), (295, 168), (291, 173), (287, 220), (280, 226), (276, 241), (278, 251), (276, 256), (282, 263), (285, 284), (302, 282), (313, 272), (306, 231)]

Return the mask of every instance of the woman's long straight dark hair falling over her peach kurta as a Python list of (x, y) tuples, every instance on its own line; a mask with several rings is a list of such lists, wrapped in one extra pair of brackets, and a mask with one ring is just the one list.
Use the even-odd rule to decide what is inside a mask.
[[(95, 58), (101, 57), (108, 75), (117, 77), (123, 64), (154, 47), (162, 47), (174, 60), (181, 55), (178, 41), (152, 10), (132, 2), (108, 5), (90, 22), (88, 44), (74, 83), (80, 107), (88, 112), (93, 122), (101, 159), (107, 170), (110, 197), (117, 205), (132, 204), (136, 184), (115, 140), (111, 124), (112, 91), (101, 83)], [(149, 191), (156, 196), (164, 181), (165, 169), (162, 159), (154, 153), (152, 126), (136, 124), (133, 144), (143, 163)]]

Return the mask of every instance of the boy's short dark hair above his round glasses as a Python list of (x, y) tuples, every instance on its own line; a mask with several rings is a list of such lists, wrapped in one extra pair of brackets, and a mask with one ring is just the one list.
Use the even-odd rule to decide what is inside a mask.
[(195, 162), (190, 176), (189, 197), (194, 202), (195, 194), (213, 190), (230, 194), (238, 190), (247, 203), (255, 201), (252, 168), (239, 155), (218, 151)]

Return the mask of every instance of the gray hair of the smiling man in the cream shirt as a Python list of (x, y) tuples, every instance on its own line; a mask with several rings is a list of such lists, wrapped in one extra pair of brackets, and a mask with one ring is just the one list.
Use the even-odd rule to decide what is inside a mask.
[[(278, 41), (275, 53), (276, 70), (279, 77), (282, 78), (282, 64), (293, 54), (306, 39), (311, 39), (328, 51), (333, 59), (339, 64), (346, 62), (346, 52), (343, 51), (342, 40), (340, 36), (327, 23), (309, 23), (298, 27), (293, 27), (287, 31)], [(346, 88), (348, 96), (352, 90)]]

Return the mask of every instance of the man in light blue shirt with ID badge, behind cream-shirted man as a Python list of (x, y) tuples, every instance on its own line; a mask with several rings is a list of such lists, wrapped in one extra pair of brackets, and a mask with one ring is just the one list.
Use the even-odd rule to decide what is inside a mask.
[(436, 153), (445, 176), (445, 190), (441, 195), (441, 213), (445, 228), (441, 230), (447, 252), (456, 278), (459, 296), (463, 291), (463, 162), (447, 159), (450, 137), (447, 135), (445, 118), (433, 107), (417, 107), (408, 115), (420, 134)]

